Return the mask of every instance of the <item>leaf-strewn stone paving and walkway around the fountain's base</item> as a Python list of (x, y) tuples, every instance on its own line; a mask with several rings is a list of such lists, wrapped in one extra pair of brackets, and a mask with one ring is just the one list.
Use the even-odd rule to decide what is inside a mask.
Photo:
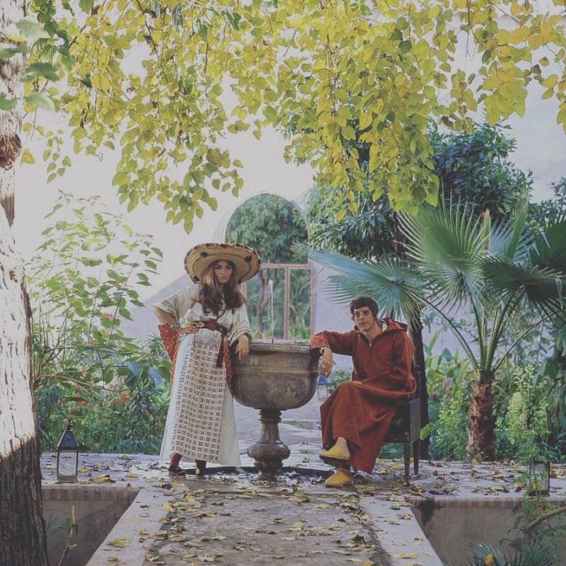
[[(172, 478), (157, 456), (81, 454), (80, 484), (139, 489), (88, 566), (441, 566), (412, 512), (415, 497), (524, 497), (521, 470), (502, 463), (423, 462), (419, 477), (405, 485), (402, 461), (378, 461), (354, 486), (328, 489), (331, 468), (318, 459), (313, 418), (318, 405), (309, 405), (284, 415), (281, 437), (291, 456), (276, 483), (255, 479), (246, 447), (259, 425), (256, 412), (245, 408), (237, 411), (243, 456), (237, 473), (213, 466), (204, 479)], [(46, 485), (55, 483), (55, 463), (52, 454), (42, 456)], [(554, 466), (553, 476), (552, 499), (563, 500), (566, 466)]]

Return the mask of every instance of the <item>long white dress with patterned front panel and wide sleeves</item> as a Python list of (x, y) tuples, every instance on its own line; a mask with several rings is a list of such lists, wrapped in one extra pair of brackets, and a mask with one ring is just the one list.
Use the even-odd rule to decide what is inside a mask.
[[(221, 310), (219, 316), (204, 313), (199, 301), (200, 285), (185, 289), (156, 303), (183, 325), (193, 320), (215, 320), (228, 329), (233, 345), (242, 334), (251, 336), (246, 305)], [(233, 400), (226, 385), (226, 366), (216, 366), (221, 334), (201, 328), (180, 337), (173, 388), (161, 444), (161, 458), (174, 452), (195, 460), (240, 466), (238, 434)]]

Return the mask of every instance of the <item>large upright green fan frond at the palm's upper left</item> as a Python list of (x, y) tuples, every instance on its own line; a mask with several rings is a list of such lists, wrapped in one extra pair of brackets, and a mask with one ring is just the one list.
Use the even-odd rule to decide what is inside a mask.
[(400, 223), (408, 239), (408, 256), (444, 301), (477, 301), (482, 274), (476, 260), (485, 253), (487, 235), (470, 209), (424, 205), (415, 216), (401, 213)]

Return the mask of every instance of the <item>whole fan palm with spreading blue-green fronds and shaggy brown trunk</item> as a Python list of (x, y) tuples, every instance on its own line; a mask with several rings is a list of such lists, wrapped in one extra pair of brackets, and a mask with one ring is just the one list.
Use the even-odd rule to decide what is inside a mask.
[[(477, 376), (471, 384), (468, 453), (493, 460), (497, 369), (537, 325), (563, 325), (566, 214), (535, 235), (528, 230), (525, 207), (492, 225), (488, 214), (475, 219), (466, 205), (424, 205), (414, 216), (401, 214), (401, 224), (408, 261), (357, 262), (314, 248), (308, 254), (340, 272), (327, 280), (338, 301), (370, 294), (391, 316), (408, 319), (429, 308), (446, 322)], [(531, 323), (518, 329), (524, 308), (532, 312)], [(471, 341), (456, 321), (463, 312), (473, 322)]]

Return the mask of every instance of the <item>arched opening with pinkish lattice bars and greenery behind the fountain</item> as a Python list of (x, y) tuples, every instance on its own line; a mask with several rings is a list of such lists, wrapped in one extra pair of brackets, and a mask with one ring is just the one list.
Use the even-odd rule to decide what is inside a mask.
[(231, 216), (225, 240), (251, 246), (262, 258), (260, 273), (244, 285), (254, 337), (310, 337), (312, 267), (304, 255), (291, 250), (294, 243), (307, 242), (306, 224), (295, 205), (277, 195), (252, 197)]

